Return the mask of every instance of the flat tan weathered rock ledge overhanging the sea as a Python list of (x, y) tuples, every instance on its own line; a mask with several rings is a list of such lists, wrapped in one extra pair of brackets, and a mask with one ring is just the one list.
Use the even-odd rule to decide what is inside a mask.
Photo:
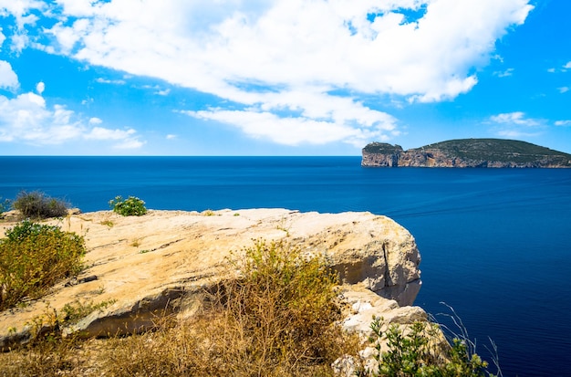
[(47, 303), (61, 312), (74, 301), (114, 302), (67, 329), (86, 337), (144, 330), (165, 310), (192, 315), (203, 289), (225, 278), (229, 252), (258, 238), (283, 239), (327, 256), (345, 283), (349, 305), (357, 305), (348, 329), (366, 331), (375, 313), (391, 321), (425, 316), (409, 307), (421, 284), (419, 250), (410, 233), (385, 216), (251, 209), (123, 217), (102, 211), (71, 215), (61, 226), (85, 236), (88, 268), (47, 297), (0, 313), (0, 348), (26, 341), (29, 323), (46, 313)]

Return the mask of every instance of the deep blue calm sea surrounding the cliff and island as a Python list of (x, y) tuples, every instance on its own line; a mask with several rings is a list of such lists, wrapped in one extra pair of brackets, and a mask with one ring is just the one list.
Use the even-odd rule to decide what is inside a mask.
[[(360, 157), (0, 157), (0, 196), (41, 190), (84, 212), (280, 207), (388, 215), (415, 236), (415, 304), (455, 309), (504, 376), (571, 376), (571, 169), (363, 168)], [(494, 371), (492, 368), (491, 371)]]

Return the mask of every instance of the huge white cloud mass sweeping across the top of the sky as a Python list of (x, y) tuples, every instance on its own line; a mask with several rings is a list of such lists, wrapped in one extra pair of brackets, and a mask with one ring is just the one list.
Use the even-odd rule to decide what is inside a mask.
[(211, 93), (233, 108), (187, 113), (284, 144), (395, 134), (397, 121), (363, 98), (454, 99), (533, 8), (529, 0), (16, 3), (4, 11), (23, 30), (34, 7), (51, 18), (36, 40), (20, 33), (30, 44)]

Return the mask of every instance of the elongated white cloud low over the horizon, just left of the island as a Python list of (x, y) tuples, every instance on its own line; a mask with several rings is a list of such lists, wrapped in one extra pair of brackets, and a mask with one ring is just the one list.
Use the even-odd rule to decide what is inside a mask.
[[(262, 105), (245, 110), (182, 111), (194, 118), (233, 125), (253, 138), (285, 145), (345, 141), (362, 146), (394, 135), (397, 120), (352, 99), (310, 92), (310, 89), (265, 94)], [(275, 114), (278, 112), (279, 114)], [(272, 112), (275, 111), (275, 112)]]

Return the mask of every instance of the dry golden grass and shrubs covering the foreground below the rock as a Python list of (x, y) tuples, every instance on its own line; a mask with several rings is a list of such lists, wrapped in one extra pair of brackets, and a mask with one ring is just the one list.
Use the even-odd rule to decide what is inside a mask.
[(381, 319), (373, 320), (370, 340), (379, 363), (367, 370), (358, 353), (362, 340), (338, 326), (337, 275), (323, 257), (257, 240), (228, 262), (228, 279), (204, 292), (192, 318), (157, 318), (154, 331), (95, 348), (95, 340), (65, 339), (58, 330), (112, 301), (73, 302), (61, 316), (47, 309), (35, 328), (51, 330), (36, 331), (24, 349), (0, 355), (6, 365), (0, 375), (333, 376), (339, 358), (350, 360), (361, 377), (489, 375), (464, 338), (449, 343), (431, 322), (383, 326)]

